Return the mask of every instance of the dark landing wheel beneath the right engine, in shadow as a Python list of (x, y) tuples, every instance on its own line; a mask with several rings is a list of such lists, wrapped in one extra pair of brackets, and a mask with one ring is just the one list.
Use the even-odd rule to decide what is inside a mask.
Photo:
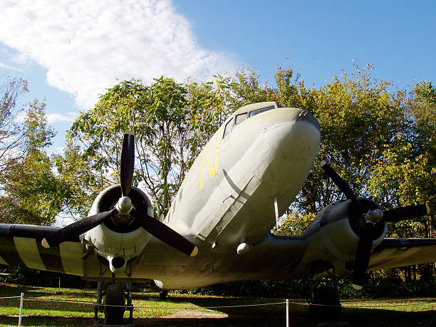
[[(326, 306), (319, 306), (323, 304)], [(335, 288), (321, 286), (314, 292), (313, 299), (309, 304), (309, 313), (314, 321), (331, 323), (339, 321), (342, 313), (342, 306), (339, 302), (339, 295)]]

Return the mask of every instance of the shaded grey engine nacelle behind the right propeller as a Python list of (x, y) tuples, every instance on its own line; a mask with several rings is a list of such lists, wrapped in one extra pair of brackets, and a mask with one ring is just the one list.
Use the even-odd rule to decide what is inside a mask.
[[(370, 199), (359, 200), (368, 209), (379, 208)], [(309, 266), (318, 261), (327, 262), (336, 269), (336, 273), (353, 270), (360, 237), (372, 239), (374, 249), (382, 242), (387, 228), (383, 221), (375, 225), (366, 223), (356, 211), (350, 199), (333, 202), (321, 210), (303, 234), (308, 249), (313, 249), (305, 254), (303, 261)], [(312, 274), (321, 271), (312, 271)]]

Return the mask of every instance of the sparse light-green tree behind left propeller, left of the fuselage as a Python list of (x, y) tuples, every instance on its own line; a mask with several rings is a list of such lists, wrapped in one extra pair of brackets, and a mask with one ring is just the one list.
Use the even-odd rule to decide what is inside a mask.
[(246, 101), (268, 100), (269, 93), (253, 70), (243, 69), (233, 79), (217, 75), (200, 84), (163, 76), (149, 86), (118, 83), (81, 113), (68, 131), (65, 155), (56, 159), (73, 192), (69, 212), (85, 216), (91, 199), (118, 183), (123, 133), (130, 129), (136, 137), (134, 184), (150, 194), (157, 217), (166, 214), (187, 170), (227, 116)]

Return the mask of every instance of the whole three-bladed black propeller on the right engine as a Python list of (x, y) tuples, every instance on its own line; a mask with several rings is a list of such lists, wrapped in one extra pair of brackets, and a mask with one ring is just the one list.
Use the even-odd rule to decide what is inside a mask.
[[(353, 204), (355, 204), (355, 214), (351, 217), (351, 219), (353, 219), (351, 224), (360, 224), (360, 227), (363, 226), (363, 232), (358, 233), (359, 242), (355, 252), (355, 264), (353, 269), (353, 288), (362, 289), (370, 261), (371, 251), (373, 250), (373, 237), (370, 235), (370, 230), (373, 229), (375, 224), (378, 222), (400, 222), (402, 220), (430, 214), (430, 207), (426, 204), (422, 204), (398, 207), (385, 212), (378, 208), (367, 208), (362, 201), (355, 197), (350, 185), (348, 185), (348, 183), (343, 180), (335, 170), (333, 170), (328, 162), (323, 160), (321, 162), (321, 167), (339, 190), (346, 195), (347, 199), (351, 199)], [(361, 224), (362, 221), (363, 224)]]

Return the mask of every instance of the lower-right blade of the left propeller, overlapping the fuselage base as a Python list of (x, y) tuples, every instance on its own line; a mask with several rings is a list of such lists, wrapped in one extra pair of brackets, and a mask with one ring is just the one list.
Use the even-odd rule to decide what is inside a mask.
[(166, 224), (150, 217), (148, 214), (138, 214), (137, 222), (139, 222), (141, 227), (154, 237), (184, 254), (187, 254), (188, 256), (196, 256), (198, 254), (197, 246), (189, 242), (185, 237), (182, 237), (182, 235), (175, 232), (170, 227), (167, 227)]

